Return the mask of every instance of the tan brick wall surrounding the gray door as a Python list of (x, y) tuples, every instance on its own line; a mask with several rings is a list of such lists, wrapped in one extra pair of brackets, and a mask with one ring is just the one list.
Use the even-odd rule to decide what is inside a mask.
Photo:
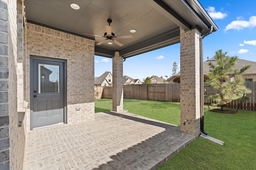
[[(26, 101), (30, 102), (30, 55), (67, 61), (67, 123), (94, 119), (94, 41), (27, 23)], [(76, 111), (76, 107), (80, 107)], [(30, 115), (27, 114), (30, 129)]]

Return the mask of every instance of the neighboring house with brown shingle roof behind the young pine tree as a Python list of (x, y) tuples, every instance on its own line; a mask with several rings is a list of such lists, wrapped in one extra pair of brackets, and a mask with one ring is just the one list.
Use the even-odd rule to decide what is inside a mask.
[[(204, 81), (208, 79), (206, 74), (210, 71), (210, 66), (209, 66), (210, 62), (212, 62), (213, 64), (216, 63), (214, 57), (204, 61)], [(235, 67), (237, 70), (240, 70), (242, 67), (246, 66), (247, 64), (250, 64), (251, 67), (244, 72), (242, 77), (246, 81), (255, 82), (256, 81), (256, 62), (243, 60), (243, 59), (237, 59)], [(226, 81), (230, 81), (230, 79), (226, 80)], [(168, 78), (167, 82), (180, 83), (180, 72), (178, 74), (175, 74), (172, 77)]]

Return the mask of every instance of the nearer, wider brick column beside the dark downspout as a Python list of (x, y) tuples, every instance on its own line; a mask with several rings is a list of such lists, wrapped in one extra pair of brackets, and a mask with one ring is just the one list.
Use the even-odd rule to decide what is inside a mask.
[(200, 35), (197, 29), (180, 28), (180, 131), (194, 136), (201, 133)]

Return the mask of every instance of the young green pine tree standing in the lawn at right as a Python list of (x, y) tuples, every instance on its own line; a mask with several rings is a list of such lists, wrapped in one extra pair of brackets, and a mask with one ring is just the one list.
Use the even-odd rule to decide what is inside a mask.
[[(206, 95), (206, 98), (216, 102), (213, 105), (220, 106), (222, 111), (227, 103), (242, 98), (244, 94), (251, 93), (251, 90), (244, 86), (245, 80), (242, 78), (242, 73), (250, 68), (250, 65), (237, 70), (235, 64), (238, 57), (228, 57), (226, 54), (227, 52), (223, 53), (222, 50), (216, 51), (214, 56), (216, 64), (209, 63), (211, 68), (207, 73), (209, 79), (205, 82), (206, 85), (219, 90), (219, 94)], [(230, 81), (227, 81), (228, 79)]]

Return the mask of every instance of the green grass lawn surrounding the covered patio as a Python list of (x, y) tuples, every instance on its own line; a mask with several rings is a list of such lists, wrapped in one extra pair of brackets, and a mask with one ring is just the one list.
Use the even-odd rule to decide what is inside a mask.
[[(95, 112), (111, 109), (111, 99), (95, 100)], [(180, 125), (180, 103), (124, 99), (124, 109)], [(204, 111), (204, 130), (224, 146), (198, 137), (159, 170), (256, 170), (256, 111), (224, 114), (208, 107)]]

